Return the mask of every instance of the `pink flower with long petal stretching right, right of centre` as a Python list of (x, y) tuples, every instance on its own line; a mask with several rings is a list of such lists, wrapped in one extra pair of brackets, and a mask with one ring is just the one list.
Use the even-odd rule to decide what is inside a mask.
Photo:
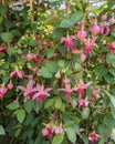
[(84, 90), (87, 89), (91, 84), (92, 84), (92, 82), (88, 82), (88, 83), (85, 84), (82, 80), (80, 80), (79, 88), (77, 88), (77, 93), (83, 94)]

